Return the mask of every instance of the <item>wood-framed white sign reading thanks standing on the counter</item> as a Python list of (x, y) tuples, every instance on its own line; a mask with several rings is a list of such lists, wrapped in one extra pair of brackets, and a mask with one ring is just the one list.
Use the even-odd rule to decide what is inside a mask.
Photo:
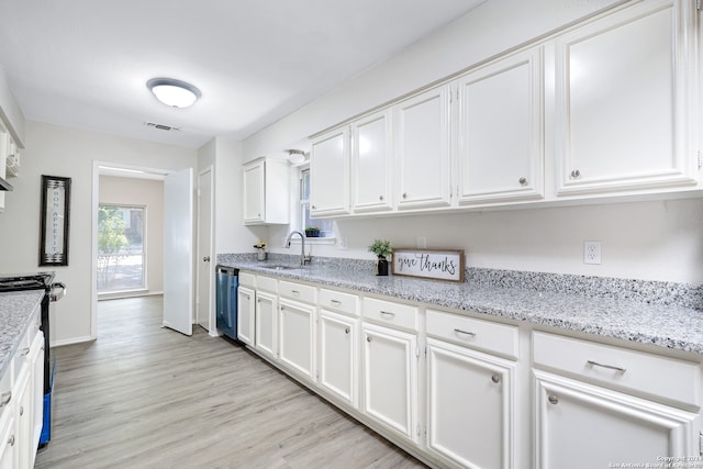
[(464, 250), (393, 249), (393, 275), (464, 281)]

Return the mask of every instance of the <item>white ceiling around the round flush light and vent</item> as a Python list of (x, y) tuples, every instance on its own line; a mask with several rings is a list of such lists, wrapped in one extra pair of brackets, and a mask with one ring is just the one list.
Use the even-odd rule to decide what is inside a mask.
[[(199, 147), (246, 138), (482, 1), (0, 0), (0, 66), (30, 121)], [(168, 108), (155, 77), (202, 98)]]

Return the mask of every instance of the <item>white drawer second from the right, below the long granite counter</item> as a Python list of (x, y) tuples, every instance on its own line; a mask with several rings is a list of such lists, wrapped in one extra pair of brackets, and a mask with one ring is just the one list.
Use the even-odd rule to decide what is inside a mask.
[(427, 310), (427, 335), (517, 359), (517, 327)]

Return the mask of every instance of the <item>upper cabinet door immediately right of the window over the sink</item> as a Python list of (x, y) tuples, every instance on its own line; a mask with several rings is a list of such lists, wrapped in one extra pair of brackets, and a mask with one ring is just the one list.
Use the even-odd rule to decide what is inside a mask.
[(332, 131), (312, 144), (310, 212), (313, 217), (349, 213), (349, 127)]

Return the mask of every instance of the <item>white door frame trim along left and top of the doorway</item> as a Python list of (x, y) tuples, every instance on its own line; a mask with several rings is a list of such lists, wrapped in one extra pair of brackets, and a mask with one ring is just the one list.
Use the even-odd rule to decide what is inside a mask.
[(90, 255), (90, 339), (98, 338), (98, 208), (100, 205), (100, 168), (110, 167), (136, 172), (147, 172), (157, 176), (166, 176), (175, 172), (172, 169), (149, 168), (144, 166), (125, 165), (113, 161), (92, 161), (92, 194), (91, 194), (91, 255)]

